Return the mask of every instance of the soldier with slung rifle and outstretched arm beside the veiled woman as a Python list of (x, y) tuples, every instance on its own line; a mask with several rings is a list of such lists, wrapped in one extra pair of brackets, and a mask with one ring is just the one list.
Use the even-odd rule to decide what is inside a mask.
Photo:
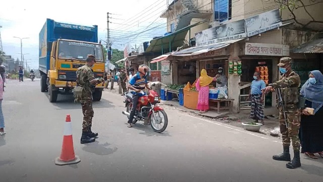
[[(280, 80), (269, 84), (264, 88), (265, 93), (273, 92), (274, 89), (281, 89), (283, 104), (285, 104), (286, 116), (288, 121), (288, 128), (285, 124), (283, 109), (279, 108), (279, 122), (280, 130), (283, 138), (284, 152), (280, 155), (274, 155), (274, 160), (289, 161), (286, 164), (287, 168), (294, 169), (301, 166), (300, 162), (300, 140), (298, 138), (298, 131), (300, 128), (300, 109), (298, 108), (300, 77), (291, 69), (292, 59), (284, 57), (280, 60), (278, 66), (282, 74)], [(292, 140), (294, 158), (291, 161), (289, 153), (289, 146)]]

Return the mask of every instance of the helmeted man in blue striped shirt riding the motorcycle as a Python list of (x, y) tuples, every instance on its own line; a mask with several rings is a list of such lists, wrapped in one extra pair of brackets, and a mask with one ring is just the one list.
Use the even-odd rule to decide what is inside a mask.
[(132, 96), (132, 107), (131, 107), (128, 125), (127, 125), (128, 127), (132, 127), (131, 123), (133, 121), (133, 118), (136, 112), (138, 99), (141, 96), (143, 96), (139, 92), (145, 89), (145, 87), (147, 89), (150, 89), (147, 84), (148, 83), (147, 76), (149, 72), (150, 72), (150, 68), (147, 65), (140, 65), (138, 68), (138, 72), (134, 76), (132, 76), (131, 79), (129, 80), (128, 88), (133, 90), (131, 91), (131, 94), (133, 94), (133, 96)]

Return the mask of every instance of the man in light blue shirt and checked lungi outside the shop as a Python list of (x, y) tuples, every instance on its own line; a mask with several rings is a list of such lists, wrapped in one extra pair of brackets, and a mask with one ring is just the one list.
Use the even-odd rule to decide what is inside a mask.
[(264, 94), (262, 94), (261, 90), (266, 87), (266, 83), (260, 79), (259, 72), (254, 72), (253, 79), (250, 86), (250, 93), (248, 96), (248, 100), (251, 100), (251, 112), (250, 118), (256, 120), (260, 120), (261, 124), (263, 122), (263, 106), (262, 102), (264, 100)]

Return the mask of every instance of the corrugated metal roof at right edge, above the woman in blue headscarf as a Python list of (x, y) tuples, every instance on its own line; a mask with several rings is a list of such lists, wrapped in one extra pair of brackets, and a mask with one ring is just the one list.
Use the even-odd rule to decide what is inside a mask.
[(301, 44), (291, 50), (292, 53), (323, 53), (323, 38)]

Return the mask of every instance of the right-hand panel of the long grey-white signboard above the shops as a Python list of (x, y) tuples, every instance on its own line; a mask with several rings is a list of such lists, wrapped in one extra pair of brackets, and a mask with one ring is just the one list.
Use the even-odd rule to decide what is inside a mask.
[(279, 9), (245, 19), (248, 37), (283, 25)]

